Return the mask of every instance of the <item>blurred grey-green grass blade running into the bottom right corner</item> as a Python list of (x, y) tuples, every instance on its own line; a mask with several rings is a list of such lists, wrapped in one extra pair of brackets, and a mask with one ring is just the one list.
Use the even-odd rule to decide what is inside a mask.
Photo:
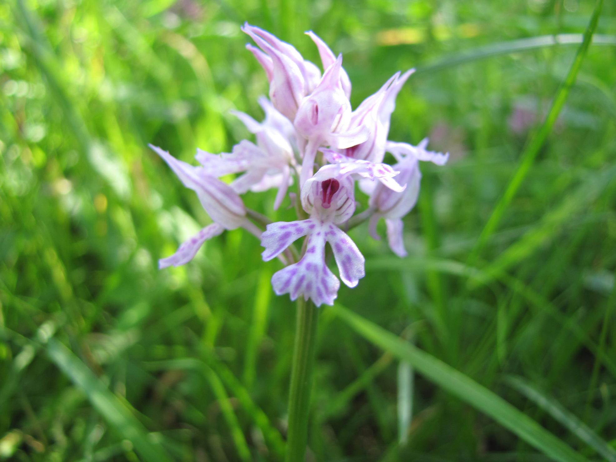
[(530, 399), (538, 407), (546, 411), (562, 426), (569, 429), (575, 436), (596, 450), (610, 462), (616, 462), (616, 450), (602, 440), (588, 425), (583, 423), (581, 419), (573, 415), (565, 409), (561, 403), (539, 391), (532, 384), (528, 383), (521, 377), (508, 376), (505, 383), (512, 386), (525, 397)]

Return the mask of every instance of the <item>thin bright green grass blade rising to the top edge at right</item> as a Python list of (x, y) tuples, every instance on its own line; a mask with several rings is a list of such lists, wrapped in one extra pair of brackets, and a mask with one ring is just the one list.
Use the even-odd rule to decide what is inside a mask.
[(481, 234), (479, 235), (479, 239), (477, 240), (477, 244), (473, 249), (471, 256), (469, 257), (469, 264), (472, 266), (479, 256), (480, 251), (482, 250), (485, 243), (487, 243), (490, 235), (495, 231), (498, 226), (503, 214), (505, 214), (505, 210), (508, 208), (509, 203), (513, 200), (513, 197), (516, 195), (517, 190), (519, 189), (522, 181), (527, 176), (532, 167), (535, 158), (537, 158), (537, 154), (539, 150), (545, 143), (549, 133), (552, 131), (554, 123), (556, 122), (556, 118), (562, 110), (562, 107), (569, 96), (569, 91), (571, 87), (575, 83), (575, 78), (577, 77), (578, 71), (580, 67), (582, 67), (582, 63), (584, 58), (586, 57), (586, 52), (588, 52), (588, 47), (593, 39), (594, 31), (597, 28), (597, 23), (599, 22), (599, 15), (601, 14), (601, 7), (603, 6), (603, 0), (597, 0), (596, 6), (594, 7), (593, 15), (590, 18), (590, 22), (586, 27), (586, 31), (584, 32), (584, 38), (582, 40), (582, 44), (578, 48), (577, 53), (575, 54), (575, 58), (573, 59), (573, 63), (569, 68), (569, 72), (565, 77), (564, 82), (556, 93), (556, 97), (554, 98), (554, 102), (552, 103), (552, 107), (548, 111), (548, 115), (545, 118), (545, 121), (541, 125), (541, 128), (535, 134), (535, 136), (530, 139), (529, 143), (522, 152), (520, 157), (519, 166), (514, 173), (513, 177), (509, 181), (509, 185), (507, 186), (505, 193), (500, 198), (496, 207), (494, 208), (492, 215), (488, 219), (487, 223), (484, 226)]

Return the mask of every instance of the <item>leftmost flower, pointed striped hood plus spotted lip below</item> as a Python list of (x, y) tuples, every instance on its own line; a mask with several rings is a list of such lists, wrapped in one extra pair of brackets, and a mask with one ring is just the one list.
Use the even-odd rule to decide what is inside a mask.
[(203, 167), (192, 166), (177, 160), (159, 147), (149, 146), (171, 167), (185, 187), (197, 193), (201, 205), (214, 221), (180, 245), (172, 256), (161, 259), (158, 262), (160, 268), (187, 263), (206, 240), (221, 234), (225, 229), (252, 229), (252, 224), (246, 219), (244, 203), (233, 188), (209, 174)]

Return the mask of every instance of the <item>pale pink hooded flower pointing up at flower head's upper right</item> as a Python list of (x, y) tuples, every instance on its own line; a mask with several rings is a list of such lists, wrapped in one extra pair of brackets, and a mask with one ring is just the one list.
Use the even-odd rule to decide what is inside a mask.
[(346, 156), (369, 160), (373, 162), (383, 161), (385, 144), (389, 134), (389, 120), (395, 108), (395, 99), (402, 86), (414, 72), (414, 69), (406, 71), (402, 76), (395, 73), (375, 94), (367, 97), (353, 111), (349, 129), (365, 126), (369, 129), (368, 139), (340, 152)]

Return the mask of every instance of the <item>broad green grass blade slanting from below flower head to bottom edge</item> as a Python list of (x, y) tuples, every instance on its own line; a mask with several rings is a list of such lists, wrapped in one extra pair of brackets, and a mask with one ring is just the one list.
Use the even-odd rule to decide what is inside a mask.
[(586, 460), (522, 411), (450, 365), (339, 304), (329, 309), (368, 341), (407, 361), (418, 373), (490, 416), (545, 455), (562, 462)]

